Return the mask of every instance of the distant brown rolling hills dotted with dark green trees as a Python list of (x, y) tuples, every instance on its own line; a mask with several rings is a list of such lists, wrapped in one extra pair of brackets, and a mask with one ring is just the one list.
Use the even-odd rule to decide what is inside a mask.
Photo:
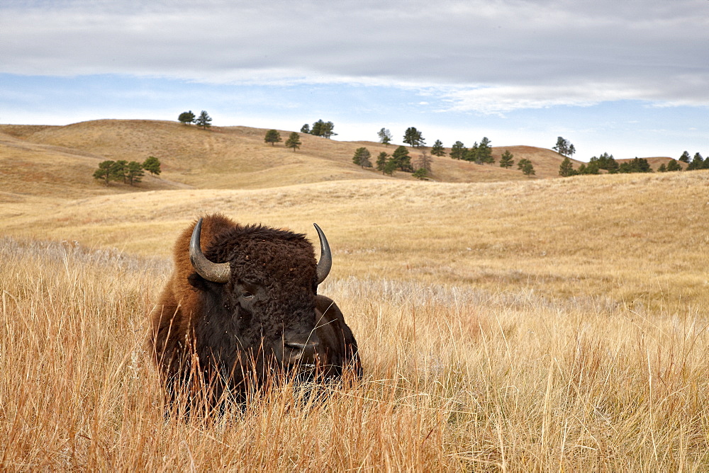
[[(10, 193), (81, 197), (104, 193), (171, 188), (269, 188), (350, 179), (413, 179), (410, 173), (384, 176), (352, 164), (357, 147), (367, 147), (372, 161), (396, 145), (340, 142), (301, 133), (301, 149), (264, 143), (267, 130), (251, 127), (211, 127), (201, 130), (178, 122), (156, 120), (94, 120), (66, 126), (0, 125), (2, 188)], [(281, 131), (287, 138), (289, 132)], [(558, 176), (563, 156), (550, 149), (527, 146), (493, 147), (496, 161), (509, 150), (515, 163), (530, 159), (534, 178)], [(409, 148), (415, 164), (421, 149)], [(430, 148), (428, 148), (430, 151)], [(446, 149), (450, 152), (450, 149)], [(106, 159), (144, 161), (156, 156), (160, 178), (146, 176), (131, 188), (108, 188), (91, 177)], [(580, 161), (575, 161), (578, 166)], [(474, 164), (447, 156), (432, 156), (432, 180), (441, 182), (518, 181), (527, 177), (513, 166)]]

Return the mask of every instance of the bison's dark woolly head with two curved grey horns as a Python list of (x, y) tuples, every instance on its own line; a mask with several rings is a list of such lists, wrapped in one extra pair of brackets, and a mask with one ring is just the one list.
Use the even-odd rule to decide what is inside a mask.
[(201, 227), (202, 219), (190, 239), (195, 273), (189, 283), (203, 292), (203, 312), (210, 323), (198, 337), (213, 338), (218, 327), (231, 335), (223, 337), (230, 346), (224, 351), (239, 347), (238, 354), (257, 365), (275, 361), (288, 370), (316, 368), (325, 360), (320, 359), (316, 331), (316, 293), (332, 267), (328, 239), (318, 224), (317, 264), (303, 235), (260, 226), (221, 234), (205, 256)]

